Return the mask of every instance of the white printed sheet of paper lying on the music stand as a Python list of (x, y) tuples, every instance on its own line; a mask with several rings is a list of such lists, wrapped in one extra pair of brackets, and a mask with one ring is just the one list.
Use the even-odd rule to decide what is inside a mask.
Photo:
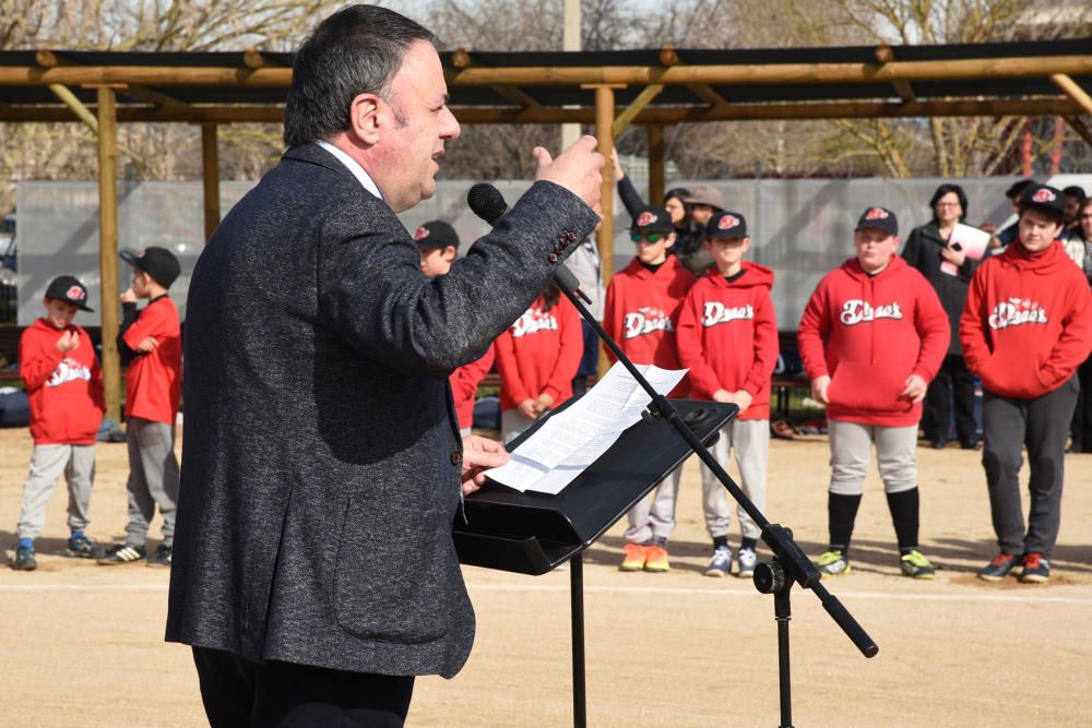
[[(653, 389), (665, 394), (686, 375), (651, 365), (637, 367)], [(626, 368), (616, 363), (583, 397), (553, 415), (512, 461), (486, 473), (490, 479), (520, 491), (556, 494), (594, 463), (631, 425), (652, 398)]]

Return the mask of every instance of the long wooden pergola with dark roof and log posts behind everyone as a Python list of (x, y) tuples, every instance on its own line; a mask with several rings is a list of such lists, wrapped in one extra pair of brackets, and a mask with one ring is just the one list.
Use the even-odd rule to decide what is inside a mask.
[[(201, 127), (204, 229), (221, 218), (217, 128), (280, 122), (292, 53), (0, 51), (0, 121), (83, 121), (98, 138), (107, 416), (117, 419), (117, 126)], [(649, 199), (664, 192), (664, 128), (703, 121), (1057, 116), (1092, 144), (1092, 38), (770, 50), (441, 53), (462, 123), (594, 123), (600, 148), (649, 138)], [(613, 187), (598, 244), (612, 271)]]

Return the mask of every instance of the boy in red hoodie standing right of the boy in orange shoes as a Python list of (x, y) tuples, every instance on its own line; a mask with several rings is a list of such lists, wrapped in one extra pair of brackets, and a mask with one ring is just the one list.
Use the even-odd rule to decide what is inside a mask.
[[(739, 414), (713, 445), (725, 468), (734, 450), (743, 490), (760, 510), (765, 508), (765, 475), (770, 461), (770, 378), (778, 363), (778, 319), (770, 289), (773, 271), (744, 262), (750, 248), (747, 220), (739, 213), (715, 213), (705, 226), (705, 248), (715, 267), (695, 284), (679, 313), (678, 349), (699, 399), (731, 402)], [(728, 524), (732, 510), (724, 486), (701, 467), (705, 529), (713, 539), (707, 576), (724, 576), (732, 566)], [(761, 532), (737, 508), (743, 540), (736, 574), (751, 576), (758, 563), (755, 547)]]

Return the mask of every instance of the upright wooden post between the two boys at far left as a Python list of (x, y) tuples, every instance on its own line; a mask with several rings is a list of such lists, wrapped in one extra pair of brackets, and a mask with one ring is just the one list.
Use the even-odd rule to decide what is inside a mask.
[(118, 358), (118, 124), (114, 89), (98, 96), (98, 267), (103, 321), (103, 383), (106, 417), (121, 421), (121, 362)]

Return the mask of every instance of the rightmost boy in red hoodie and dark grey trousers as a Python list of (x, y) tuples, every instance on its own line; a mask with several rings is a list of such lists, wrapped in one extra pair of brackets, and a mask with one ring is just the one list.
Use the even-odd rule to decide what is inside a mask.
[[(1092, 296), (1056, 240), (1066, 203), (1032, 184), (1019, 199), (1018, 239), (974, 274), (960, 319), (968, 368), (982, 380), (982, 464), (1000, 552), (978, 576), (1051, 577), (1061, 518), (1063, 460), (1077, 402), (1073, 372), (1092, 347)], [(1020, 450), (1028, 446), (1031, 511), (1024, 532)]]

